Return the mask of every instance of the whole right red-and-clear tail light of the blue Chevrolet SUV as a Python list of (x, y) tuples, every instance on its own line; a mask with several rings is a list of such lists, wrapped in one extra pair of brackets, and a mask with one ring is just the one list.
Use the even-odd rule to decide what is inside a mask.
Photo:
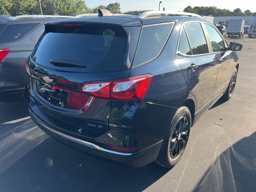
[(86, 82), (82, 86), (82, 91), (98, 98), (141, 101), (152, 78), (151, 74), (144, 74), (117, 80)]

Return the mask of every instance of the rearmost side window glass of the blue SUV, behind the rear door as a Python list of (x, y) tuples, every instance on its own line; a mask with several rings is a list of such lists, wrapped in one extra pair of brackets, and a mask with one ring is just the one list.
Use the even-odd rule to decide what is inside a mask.
[(132, 66), (138, 66), (156, 58), (164, 47), (172, 26), (173, 23), (143, 26)]

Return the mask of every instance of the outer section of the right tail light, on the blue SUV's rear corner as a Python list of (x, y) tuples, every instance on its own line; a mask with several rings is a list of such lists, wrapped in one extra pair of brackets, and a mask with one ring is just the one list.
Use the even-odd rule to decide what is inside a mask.
[(111, 97), (117, 100), (142, 100), (152, 81), (151, 74), (114, 80)]

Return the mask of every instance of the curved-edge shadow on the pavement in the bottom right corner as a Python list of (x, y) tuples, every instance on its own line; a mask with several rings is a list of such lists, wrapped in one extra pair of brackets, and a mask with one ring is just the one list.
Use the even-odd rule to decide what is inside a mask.
[(208, 169), (194, 192), (255, 191), (255, 146), (256, 132), (225, 150)]

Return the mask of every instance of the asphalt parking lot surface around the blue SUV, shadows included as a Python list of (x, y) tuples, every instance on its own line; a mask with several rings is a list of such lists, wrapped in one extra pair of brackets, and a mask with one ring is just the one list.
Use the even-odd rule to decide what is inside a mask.
[(48, 137), (25, 102), (0, 102), (0, 191), (255, 191), (256, 38), (225, 38), (243, 44), (234, 95), (192, 127), (174, 168), (87, 156)]

